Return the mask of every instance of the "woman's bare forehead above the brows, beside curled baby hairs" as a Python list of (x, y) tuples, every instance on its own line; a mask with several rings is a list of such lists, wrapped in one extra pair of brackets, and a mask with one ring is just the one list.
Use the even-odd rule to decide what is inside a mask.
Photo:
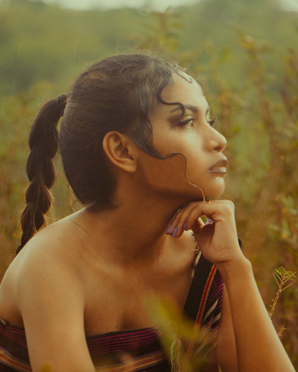
[[(162, 90), (161, 98), (165, 102), (179, 102), (184, 106), (196, 106), (203, 112), (206, 112), (209, 107), (202, 87), (186, 73), (183, 73), (183, 77), (173, 74), (171, 83)], [(170, 112), (173, 108), (175, 105), (164, 105), (157, 102), (153, 107), (152, 114), (157, 110)]]

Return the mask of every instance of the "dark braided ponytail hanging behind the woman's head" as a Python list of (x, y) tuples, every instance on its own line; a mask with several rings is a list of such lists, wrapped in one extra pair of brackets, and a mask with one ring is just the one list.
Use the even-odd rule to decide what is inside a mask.
[(16, 254), (27, 241), (46, 224), (45, 213), (51, 206), (50, 188), (56, 179), (53, 158), (58, 151), (57, 124), (63, 116), (67, 94), (46, 102), (38, 112), (29, 134), (30, 154), (26, 172), (29, 186), (26, 189), (26, 207), (21, 216), (22, 238)]

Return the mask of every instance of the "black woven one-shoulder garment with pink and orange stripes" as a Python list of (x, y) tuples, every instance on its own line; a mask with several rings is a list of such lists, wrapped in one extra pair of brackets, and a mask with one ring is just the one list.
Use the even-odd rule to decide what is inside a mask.
[[(89, 336), (86, 342), (96, 372), (184, 372), (191, 366), (196, 372), (218, 372), (215, 351), (223, 280), (216, 267), (203, 256), (197, 262), (184, 307), (184, 315), (194, 325), (186, 350), (180, 350), (179, 335), (171, 347), (175, 352), (164, 350), (162, 326)], [(125, 362), (123, 353), (131, 356)], [(0, 319), (0, 372), (13, 371), (32, 371), (26, 334), (23, 328)]]

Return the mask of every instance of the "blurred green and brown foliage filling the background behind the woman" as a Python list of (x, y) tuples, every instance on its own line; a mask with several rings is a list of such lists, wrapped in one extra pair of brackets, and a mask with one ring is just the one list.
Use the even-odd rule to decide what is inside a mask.
[[(271, 270), (298, 265), (298, 14), (276, 0), (202, 0), (168, 10), (72, 11), (41, 1), (0, 1), (0, 249), (7, 267), (19, 244), (29, 125), (42, 102), (67, 90), (85, 64), (151, 49), (198, 77), (228, 138), (223, 198), (267, 305)], [(57, 160), (58, 170), (61, 169)], [(72, 202), (62, 172), (51, 218)], [(298, 369), (298, 289), (276, 305), (276, 329)]]

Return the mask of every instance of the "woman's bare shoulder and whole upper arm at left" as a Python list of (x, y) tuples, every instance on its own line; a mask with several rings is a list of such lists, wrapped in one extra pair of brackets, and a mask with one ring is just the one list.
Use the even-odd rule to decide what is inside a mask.
[(38, 232), (1, 284), (0, 317), (25, 328), (32, 371), (45, 365), (55, 372), (94, 371), (85, 337), (79, 243), (71, 250), (76, 239), (71, 235), (67, 221)]

